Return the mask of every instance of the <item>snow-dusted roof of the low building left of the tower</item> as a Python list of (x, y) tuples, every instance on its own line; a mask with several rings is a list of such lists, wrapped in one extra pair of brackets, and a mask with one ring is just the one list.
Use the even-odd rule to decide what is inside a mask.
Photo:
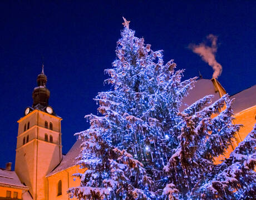
[(19, 181), (17, 174), (14, 171), (8, 171), (0, 168), (0, 185), (5, 187), (20, 188), (28, 190), (28, 187)]

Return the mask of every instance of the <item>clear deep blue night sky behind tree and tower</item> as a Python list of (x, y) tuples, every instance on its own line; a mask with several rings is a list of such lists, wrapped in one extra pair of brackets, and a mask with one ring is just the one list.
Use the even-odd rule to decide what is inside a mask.
[[(168, 3), (167, 3), (168, 2)], [(190, 49), (208, 34), (218, 36), (219, 82), (229, 94), (256, 84), (255, 1), (1, 1), (0, 167), (15, 161), (17, 120), (32, 105), (42, 56), (50, 105), (63, 118), (63, 153), (96, 113), (92, 100), (106, 91), (104, 69), (115, 59), (122, 16), (137, 37), (164, 50), (186, 69), (184, 78), (211, 78), (213, 71)]]

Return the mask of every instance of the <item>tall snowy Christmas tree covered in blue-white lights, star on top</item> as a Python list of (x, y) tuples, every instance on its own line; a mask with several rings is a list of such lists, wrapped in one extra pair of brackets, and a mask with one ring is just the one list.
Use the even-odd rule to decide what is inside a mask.
[(113, 87), (95, 98), (102, 116), (86, 116), (90, 128), (77, 133), (83, 141), (77, 164), (87, 170), (75, 174), (81, 184), (70, 189), (71, 196), (221, 199), (227, 191), (227, 199), (239, 196), (243, 184), (234, 190), (233, 182), (225, 183), (228, 189), (214, 185), (221, 170), (232, 166), (231, 160), (214, 164), (239, 129), (232, 124), (232, 100), (225, 95), (210, 104), (206, 96), (180, 111), (196, 77), (181, 81), (184, 71), (175, 71), (173, 60), (164, 64), (163, 51), (152, 51), (124, 20), (116, 60), (105, 71)]

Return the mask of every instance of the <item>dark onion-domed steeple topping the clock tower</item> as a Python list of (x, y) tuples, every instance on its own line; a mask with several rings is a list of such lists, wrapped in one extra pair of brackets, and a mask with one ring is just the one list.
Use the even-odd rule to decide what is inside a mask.
[(32, 93), (33, 108), (42, 109), (48, 106), (48, 99), (50, 98), (50, 91), (46, 88), (47, 76), (43, 72), (43, 67), (42, 64), (42, 72), (37, 76), (37, 87), (34, 88)]

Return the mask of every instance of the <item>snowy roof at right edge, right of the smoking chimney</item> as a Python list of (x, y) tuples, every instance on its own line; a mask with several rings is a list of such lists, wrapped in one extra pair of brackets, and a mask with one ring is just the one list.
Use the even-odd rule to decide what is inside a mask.
[(233, 111), (235, 114), (256, 106), (256, 85), (234, 94), (231, 98), (235, 98), (233, 103)]

